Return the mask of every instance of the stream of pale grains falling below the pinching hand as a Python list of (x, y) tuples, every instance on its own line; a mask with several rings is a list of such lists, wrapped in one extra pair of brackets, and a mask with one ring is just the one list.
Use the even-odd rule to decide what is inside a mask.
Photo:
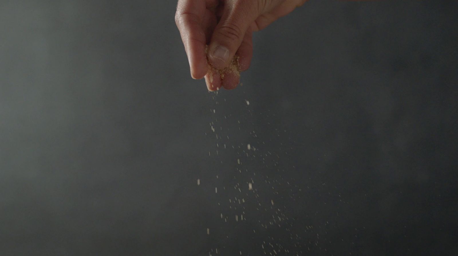
[[(240, 128), (244, 122), (251, 122), (254, 125), (254, 113), (251, 111), (252, 105), (249, 100), (233, 103), (245, 103), (246, 111), (242, 117), (234, 117), (231, 114), (219, 113), (218, 107), (229, 108), (229, 104), (222, 95), (218, 95), (218, 91), (213, 93), (212, 98), (214, 100), (214, 106), (210, 109), (212, 119), (209, 122), (209, 132), (206, 134), (213, 137), (215, 147), (208, 151), (207, 157), (217, 159), (222, 166), (232, 166), (232, 173), (218, 173), (214, 181), (208, 181), (215, 184), (215, 194), (218, 196), (217, 203), (220, 209), (218, 218), (223, 228), (206, 227), (207, 235), (216, 236), (215, 232), (219, 230), (230, 230), (228, 234), (219, 234), (220, 243), (210, 249), (208, 255), (233, 255), (233, 251), (221, 245), (238, 237), (244, 237), (244, 239), (250, 237), (252, 239), (251, 247), (256, 248), (260, 255), (306, 255), (310, 253), (312, 246), (319, 246), (321, 251), (326, 251), (325, 243), (327, 241), (319, 239), (319, 234), (314, 232), (313, 225), (301, 227), (303, 232), (301, 231), (300, 234), (296, 232), (298, 230), (294, 227), (296, 220), (294, 217), (287, 216), (286, 206), (282, 204), (282, 200), (285, 200), (284, 196), (296, 201), (303, 193), (301, 188), (294, 185), (294, 178), (287, 178), (287, 175), (284, 175), (285, 167), (280, 164), (280, 156), (287, 156), (287, 151), (292, 148), (285, 148), (282, 145), (278, 150), (269, 150), (271, 149), (267, 145), (269, 141), (258, 138), (256, 131)], [(262, 113), (259, 114), (262, 115)], [(269, 117), (268, 113), (264, 115)], [(230, 122), (236, 122), (239, 127), (235, 130), (224, 127), (221, 121), (218, 122), (223, 118), (226, 121), (229, 119)], [(275, 131), (273, 135), (281, 136), (278, 129)], [(245, 133), (250, 136), (246, 141), (237, 141), (229, 136), (234, 133), (239, 135)], [(230, 154), (236, 157), (231, 162), (223, 162), (220, 154)], [(287, 168), (290, 168), (290, 171), (295, 169), (294, 166)], [(276, 171), (276, 174), (269, 177), (267, 173), (273, 173), (272, 170)], [(233, 177), (230, 184), (218, 183), (218, 177), (224, 175)], [(200, 184), (201, 180), (197, 179), (197, 185)], [(282, 191), (282, 195), (279, 195), (279, 191)], [(244, 225), (243, 223), (249, 224)], [(215, 232), (210, 233), (211, 230)], [(247, 232), (251, 234), (247, 235)], [(307, 239), (302, 238), (302, 234), (305, 233)], [(311, 236), (312, 233), (316, 233), (316, 236)], [(285, 240), (285, 237), (289, 239)], [(244, 254), (241, 250), (237, 252), (239, 255), (252, 255)]]

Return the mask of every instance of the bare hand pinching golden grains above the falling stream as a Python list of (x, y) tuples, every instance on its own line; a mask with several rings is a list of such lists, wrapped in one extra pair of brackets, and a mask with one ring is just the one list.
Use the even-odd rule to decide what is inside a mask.
[(239, 57), (240, 71), (248, 69), (253, 56), (252, 32), (267, 27), (305, 1), (179, 0), (175, 22), (185, 45), (191, 77), (205, 77), (210, 91), (221, 86), (234, 89), (239, 83), (239, 72), (223, 69), (234, 63), (234, 56)]

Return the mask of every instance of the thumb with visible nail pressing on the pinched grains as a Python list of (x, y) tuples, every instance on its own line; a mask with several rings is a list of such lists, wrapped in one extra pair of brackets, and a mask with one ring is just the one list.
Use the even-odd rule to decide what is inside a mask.
[(246, 30), (258, 16), (257, 1), (229, 0), (223, 15), (213, 31), (208, 47), (208, 60), (213, 67), (222, 69), (232, 61), (240, 47)]

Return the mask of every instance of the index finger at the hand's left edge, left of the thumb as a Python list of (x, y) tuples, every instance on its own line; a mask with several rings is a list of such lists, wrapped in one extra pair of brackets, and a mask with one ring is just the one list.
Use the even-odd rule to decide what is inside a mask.
[(207, 73), (205, 55), (205, 33), (202, 20), (207, 6), (217, 4), (217, 0), (179, 0), (175, 13), (175, 23), (180, 30), (181, 40), (188, 56), (191, 77), (200, 79)]

